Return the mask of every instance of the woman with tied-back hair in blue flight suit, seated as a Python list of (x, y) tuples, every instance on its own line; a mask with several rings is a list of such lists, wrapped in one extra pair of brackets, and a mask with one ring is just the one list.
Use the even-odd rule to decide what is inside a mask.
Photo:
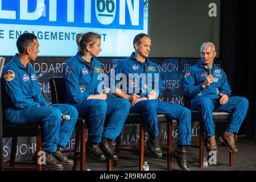
[[(64, 66), (66, 103), (79, 111), (81, 118), (88, 119), (89, 139), (86, 152), (92, 158), (117, 160), (118, 156), (109, 146), (122, 131), (131, 104), (123, 98), (108, 98), (102, 88), (101, 63), (95, 57), (101, 51), (101, 37), (94, 32), (77, 35), (79, 52)], [(109, 119), (104, 128), (105, 116)]]

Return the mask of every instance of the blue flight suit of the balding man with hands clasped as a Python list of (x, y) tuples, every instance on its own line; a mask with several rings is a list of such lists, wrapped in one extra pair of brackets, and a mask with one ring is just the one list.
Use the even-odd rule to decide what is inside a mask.
[[(154, 90), (156, 97), (158, 97), (163, 91), (159, 68), (148, 58), (146, 58), (146, 63), (143, 65), (140, 61), (137, 61), (133, 52), (130, 57), (118, 61), (113, 68), (115, 69), (112, 71), (111, 81), (113, 81), (114, 77), (119, 78), (121, 76), (120, 73), (125, 74), (126, 78), (122, 78), (122, 81), (120, 81), (121, 79), (116, 79), (115, 84), (110, 83), (112, 90), (117, 89), (118, 84), (120, 84), (123, 92), (129, 95), (137, 93), (140, 97), (144, 97), (151, 90)], [(131, 74), (130, 77), (129, 74)], [(158, 137), (159, 135), (156, 114), (164, 114), (167, 117), (179, 119), (177, 143), (179, 145), (191, 144), (191, 111), (186, 107), (171, 102), (143, 100), (131, 107), (130, 113), (142, 114), (151, 137)]]

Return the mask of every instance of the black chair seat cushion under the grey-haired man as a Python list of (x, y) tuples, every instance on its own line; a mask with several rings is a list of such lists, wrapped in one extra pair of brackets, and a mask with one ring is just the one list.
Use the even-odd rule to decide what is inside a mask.
[[(192, 121), (200, 121), (200, 116), (198, 111), (191, 111)], [(229, 121), (231, 113), (224, 111), (213, 111), (213, 121)]]

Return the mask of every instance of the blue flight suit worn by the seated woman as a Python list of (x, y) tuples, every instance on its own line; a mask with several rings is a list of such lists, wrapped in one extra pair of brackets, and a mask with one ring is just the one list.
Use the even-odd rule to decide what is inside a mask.
[[(89, 96), (100, 94), (104, 88), (100, 86), (101, 63), (94, 57), (92, 65), (85, 63), (80, 53), (71, 57), (63, 68), (66, 89), (66, 103), (72, 104), (79, 111), (81, 118), (88, 119), (89, 141), (99, 143), (101, 137), (114, 140), (122, 131), (129, 114), (130, 102), (123, 98), (107, 100), (89, 99)], [(104, 127), (105, 116), (109, 120)]]

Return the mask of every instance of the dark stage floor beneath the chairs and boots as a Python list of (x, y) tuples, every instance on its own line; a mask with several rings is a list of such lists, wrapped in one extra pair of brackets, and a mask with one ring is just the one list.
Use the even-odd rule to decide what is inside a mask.
[[(195, 143), (199, 144), (199, 143)], [(188, 163), (191, 171), (256, 171), (256, 142), (238, 139), (237, 146), (240, 150), (234, 155), (234, 166), (229, 166), (229, 152), (225, 146), (217, 142), (218, 154), (217, 164), (209, 165), (208, 168), (199, 167), (199, 148), (189, 147)], [(176, 144), (172, 145), (176, 148)], [(204, 147), (204, 156), (207, 156), (206, 147)], [(163, 158), (152, 158), (150, 150), (145, 147), (144, 161), (147, 161), (150, 171), (167, 171), (167, 151), (163, 150)], [(119, 153), (118, 166), (112, 167), (112, 171), (138, 171), (139, 168), (138, 151), (121, 150)], [(4, 164), (7, 166), (7, 164)], [(17, 165), (18, 166), (18, 165)], [(79, 170), (79, 163), (77, 165)], [(86, 169), (91, 171), (106, 171), (106, 162), (98, 162), (86, 155)], [(64, 167), (65, 171), (71, 171), (71, 167)], [(172, 159), (172, 171), (180, 171), (176, 160)]]

